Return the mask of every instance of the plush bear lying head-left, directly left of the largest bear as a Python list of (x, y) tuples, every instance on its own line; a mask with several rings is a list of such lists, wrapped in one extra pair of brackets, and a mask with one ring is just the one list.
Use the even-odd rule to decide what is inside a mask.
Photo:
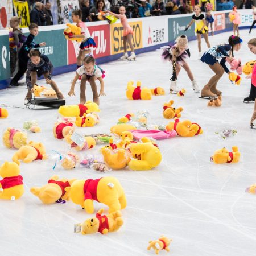
[(69, 199), (69, 192), (65, 191), (66, 187), (76, 179), (59, 179), (57, 175), (52, 176), (43, 187), (32, 187), (30, 192), (37, 196), (43, 204), (64, 203)]

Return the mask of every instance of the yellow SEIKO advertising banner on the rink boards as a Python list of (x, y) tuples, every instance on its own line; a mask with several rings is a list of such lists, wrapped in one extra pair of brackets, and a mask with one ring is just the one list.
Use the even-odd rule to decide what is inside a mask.
[[(142, 48), (142, 21), (129, 22), (133, 28), (133, 47), (134, 49)], [(110, 24), (111, 54), (123, 52), (123, 26), (121, 23)], [(127, 50), (130, 51), (129, 44)]]

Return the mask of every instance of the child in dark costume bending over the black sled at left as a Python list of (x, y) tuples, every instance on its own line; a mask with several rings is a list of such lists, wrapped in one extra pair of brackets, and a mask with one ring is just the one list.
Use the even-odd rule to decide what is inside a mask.
[(27, 64), (27, 95), (24, 101), (25, 105), (30, 103), (32, 92), (34, 92), (34, 85), (36, 83), (36, 76), (44, 76), (46, 84), (51, 85), (52, 89), (56, 92), (59, 99), (63, 99), (63, 94), (60, 92), (55, 81), (52, 80), (53, 65), (46, 55), (40, 54), (39, 49), (31, 49), (29, 53), (30, 59)]

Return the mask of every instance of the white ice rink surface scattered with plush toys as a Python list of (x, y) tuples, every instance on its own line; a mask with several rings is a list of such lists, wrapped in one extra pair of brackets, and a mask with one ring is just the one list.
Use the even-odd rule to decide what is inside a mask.
[[(256, 30), (255, 30), (256, 31)], [(235, 57), (242, 63), (256, 59), (247, 48), (247, 30), (241, 31), (243, 44)], [(210, 36), (210, 44), (228, 42), (231, 33)], [(206, 44), (202, 39), (203, 51)], [(197, 60), (197, 42), (189, 43), (191, 59), (189, 65), (200, 89), (213, 75), (209, 67)], [(65, 171), (52, 170), (50, 160), (21, 163), (25, 193), (16, 201), (1, 201), (0, 207), (0, 251), (1, 255), (155, 255), (147, 251), (148, 241), (160, 235), (172, 238), (170, 253), (173, 256), (243, 256), (255, 255), (256, 251), (256, 197), (245, 192), (246, 187), (256, 183), (255, 143), (256, 130), (250, 129), (250, 118), (254, 104), (243, 103), (249, 95), (250, 80), (240, 86), (231, 84), (226, 73), (218, 83), (222, 91), (221, 108), (208, 108), (208, 100), (199, 99), (192, 90), (191, 82), (184, 70), (178, 77), (178, 86), (185, 88), (184, 97), (168, 94), (171, 67), (160, 59), (160, 50), (143, 53), (133, 61), (113, 61), (100, 67), (106, 71), (105, 97), (100, 98), (100, 124), (77, 129), (80, 134), (109, 133), (110, 127), (123, 115), (137, 110), (147, 110), (148, 122), (167, 125), (163, 118), (163, 103), (170, 98), (174, 106), (182, 106), (183, 119), (199, 123), (204, 133), (192, 138), (175, 137), (158, 141), (163, 160), (151, 171), (119, 170), (108, 173), (75, 168)], [(68, 97), (70, 81), (75, 72), (55, 76), (66, 96), (66, 104), (79, 103), (79, 86), (76, 97)], [(129, 80), (141, 80), (142, 86), (166, 89), (165, 96), (153, 96), (150, 101), (129, 101), (125, 90)], [(44, 80), (39, 81), (44, 85)], [(0, 91), (0, 103), (23, 107), (26, 86)], [(92, 100), (88, 86), (87, 100)], [(22, 128), (23, 122), (36, 119), (42, 133), (28, 134), (30, 140), (41, 141), (47, 152), (67, 150), (64, 141), (53, 138), (52, 128), (57, 118), (56, 109), (8, 108), (9, 117), (1, 119), (1, 133), (6, 127)], [(237, 134), (222, 139), (216, 131), (235, 129)], [(232, 150), (238, 146), (241, 160), (237, 164), (217, 165), (210, 162), (214, 151), (222, 147)], [(98, 153), (96, 147), (90, 153)], [(0, 145), (0, 163), (11, 161), (15, 150)], [(86, 151), (85, 151), (86, 154)], [(42, 186), (52, 175), (97, 179), (114, 176), (121, 182), (127, 197), (127, 208), (122, 210), (124, 225), (115, 233), (106, 236), (100, 233), (82, 236), (73, 233), (73, 225), (93, 217), (78, 205), (43, 205), (30, 193), (33, 186)], [(97, 211), (101, 204), (94, 202)], [(105, 207), (105, 212), (108, 207)]]

